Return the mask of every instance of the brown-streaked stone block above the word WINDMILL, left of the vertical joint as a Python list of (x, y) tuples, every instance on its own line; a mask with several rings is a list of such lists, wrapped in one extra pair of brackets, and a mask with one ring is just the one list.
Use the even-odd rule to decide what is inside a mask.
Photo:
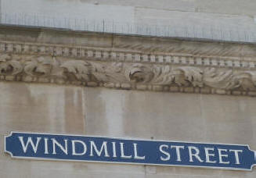
[(0, 83), (0, 130), (84, 133), (81, 87)]

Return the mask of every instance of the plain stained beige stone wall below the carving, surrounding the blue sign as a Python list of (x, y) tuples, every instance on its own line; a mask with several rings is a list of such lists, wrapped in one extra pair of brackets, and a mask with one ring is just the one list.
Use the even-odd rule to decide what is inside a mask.
[[(256, 149), (255, 98), (0, 83), (0, 134), (11, 130), (168, 141), (249, 144)], [(256, 171), (54, 162), (11, 158), (1, 177), (255, 177)]]

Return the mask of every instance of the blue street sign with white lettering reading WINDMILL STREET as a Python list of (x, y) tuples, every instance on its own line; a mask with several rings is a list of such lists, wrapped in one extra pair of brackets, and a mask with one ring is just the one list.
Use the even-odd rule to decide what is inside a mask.
[(140, 141), (110, 137), (12, 132), (5, 152), (13, 158), (115, 162), (251, 170), (254, 151), (248, 145), (178, 141)]

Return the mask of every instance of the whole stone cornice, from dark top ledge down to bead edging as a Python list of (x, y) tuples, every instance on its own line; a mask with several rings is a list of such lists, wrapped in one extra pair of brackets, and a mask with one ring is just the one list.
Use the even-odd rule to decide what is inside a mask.
[(256, 96), (256, 45), (0, 27), (0, 80)]

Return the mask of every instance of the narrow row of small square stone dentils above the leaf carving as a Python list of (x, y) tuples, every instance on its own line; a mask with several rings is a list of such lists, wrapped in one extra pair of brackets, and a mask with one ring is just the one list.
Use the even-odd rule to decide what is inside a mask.
[(114, 61), (114, 62), (147, 62), (159, 64), (233, 67), (256, 69), (255, 58), (218, 56), (218, 55), (191, 55), (186, 52), (133, 52), (114, 50), (109, 48), (86, 48), (50, 44), (33, 44), (0, 41), (0, 52), (23, 55), (52, 55), (83, 60)]

